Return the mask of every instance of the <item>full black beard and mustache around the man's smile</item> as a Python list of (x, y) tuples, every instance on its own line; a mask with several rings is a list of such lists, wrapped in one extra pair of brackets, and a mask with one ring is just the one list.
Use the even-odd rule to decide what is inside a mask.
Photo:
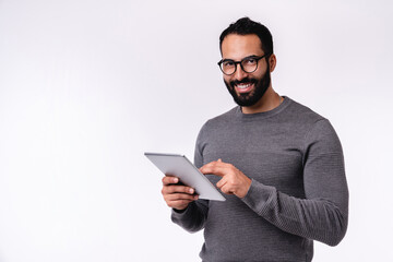
[[(237, 80), (230, 81), (229, 83), (224, 80), (224, 83), (228, 88), (230, 95), (234, 97), (236, 104), (238, 104), (241, 107), (253, 106), (262, 98), (262, 96), (270, 86), (271, 75), (270, 75), (269, 63), (267, 63), (266, 73), (261, 79), (246, 78), (240, 81)], [(242, 84), (242, 83), (251, 83), (254, 85), (254, 88), (249, 93), (237, 94), (235, 91), (235, 86), (237, 84)]]

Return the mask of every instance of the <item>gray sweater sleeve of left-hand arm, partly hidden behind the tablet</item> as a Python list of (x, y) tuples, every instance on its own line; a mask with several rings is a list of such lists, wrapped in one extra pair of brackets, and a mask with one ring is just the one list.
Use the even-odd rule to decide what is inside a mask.
[[(200, 168), (203, 166), (203, 156), (202, 156), (202, 135), (204, 132), (205, 126), (202, 127), (195, 145), (194, 152), (194, 165)], [(205, 221), (207, 218), (209, 212), (209, 200), (196, 200), (191, 202), (184, 211), (175, 211), (171, 212), (171, 221), (175, 224), (178, 224), (183, 229), (190, 233), (195, 233), (204, 228)]]

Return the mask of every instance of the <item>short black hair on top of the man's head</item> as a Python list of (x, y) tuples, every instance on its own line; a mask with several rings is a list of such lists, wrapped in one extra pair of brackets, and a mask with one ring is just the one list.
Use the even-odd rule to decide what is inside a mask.
[(261, 40), (261, 48), (267, 56), (273, 53), (273, 37), (266, 26), (254, 22), (249, 17), (242, 17), (231, 23), (228, 28), (223, 31), (219, 36), (219, 50), (222, 51), (222, 44), (224, 38), (229, 34), (237, 35), (257, 35)]

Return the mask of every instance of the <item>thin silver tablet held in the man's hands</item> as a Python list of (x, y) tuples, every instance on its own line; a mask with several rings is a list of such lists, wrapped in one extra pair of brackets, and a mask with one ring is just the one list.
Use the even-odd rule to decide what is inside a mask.
[(184, 155), (144, 154), (162, 172), (178, 177), (180, 182), (195, 189), (199, 199), (225, 201), (213, 183)]

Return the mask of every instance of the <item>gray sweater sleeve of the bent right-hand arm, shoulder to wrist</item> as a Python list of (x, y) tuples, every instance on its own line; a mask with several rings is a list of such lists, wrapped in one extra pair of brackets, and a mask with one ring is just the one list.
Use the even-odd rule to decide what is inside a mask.
[(336, 246), (348, 223), (348, 188), (340, 140), (327, 120), (305, 136), (305, 199), (252, 180), (242, 201), (284, 231)]

